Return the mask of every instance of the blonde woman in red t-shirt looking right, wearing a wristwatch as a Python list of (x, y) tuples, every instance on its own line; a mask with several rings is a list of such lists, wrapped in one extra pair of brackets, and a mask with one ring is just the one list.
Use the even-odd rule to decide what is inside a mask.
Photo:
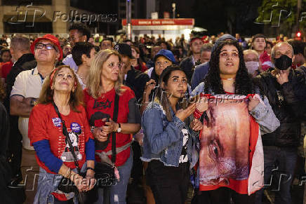
[(100, 50), (93, 59), (87, 80), (84, 102), (95, 138), (96, 161), (105, 161), (99, 156), (102, 152), (112, 153), (111, 135), (115, 135), (117, 155), (115, 159), (109, 155), (106, 160), (110, 162), (112, 158), (111, 162), (116, 166), (120, 177), (116, 185), (107, 188), (107, 195), (103, 189), (98, 189), (97, 203), (102, 203), (104, 199), (110, 199), (110, 203), (126, 203), (126, 189), (133, 163), (131, 135), (140, 130), (140, 112), (133, 90), (122, 85), (119, 53), (109, 49)]

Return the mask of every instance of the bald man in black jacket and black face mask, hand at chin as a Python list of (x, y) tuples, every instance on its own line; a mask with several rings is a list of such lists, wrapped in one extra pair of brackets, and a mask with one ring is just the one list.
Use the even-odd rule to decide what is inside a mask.
[[(272, 49), (272, 62), (275, 68), (256, 76), (255, 83), (267, 96), (274, 114), (281, 125), (277, 130), (262, 136), (265, 156), (265, 185), (270, 185), (270, 177), (279, 186), (275, 203), (291, 203), (290, 186), (297, 160), (297, 147), (300, 137), (302, 104), (295, 96), (294, 90), (305, 83), (305, 77), (293, 69), (293, 48), (288, 43), (277, 43)], [(279, 177), (275, 177), (279, 175)], [(262, 190), (256, 195), (256, 203), (262, 202)]]

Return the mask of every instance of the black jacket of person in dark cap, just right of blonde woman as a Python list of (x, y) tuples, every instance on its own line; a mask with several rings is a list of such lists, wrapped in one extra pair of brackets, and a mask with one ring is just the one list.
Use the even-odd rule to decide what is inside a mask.
[(147, 81), (149, 81), (149, 76), (147, 74), (132, 67), (132, 69), (128, 71), (124, 85), (128, 86), (134, 91), (136, 100), (140, 102)]

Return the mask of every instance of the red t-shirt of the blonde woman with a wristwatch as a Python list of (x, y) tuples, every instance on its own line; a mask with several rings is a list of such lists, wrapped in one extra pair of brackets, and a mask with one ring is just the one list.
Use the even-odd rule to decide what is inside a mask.
[[(119, 111), (118, 111), (118, 118), (117, 123), (138, 123), (137, 118), (131, 118), (131, 114), (129, 115), (131, 109), (131, 100), (135, 99), (135, 94), (131, 88), (127, 86), (123, 86), (124, 93), (119, 96)], [(98, 99), (94, 99), (89, 95), (87, 89), (84, 90), (84, 103), (86, 104), (86, 112), (87, 118), (89, 121), (89, 125), (95, 127), (102, 126), (102, 118), (106, 118), (107, 115), (109, 118), (113, 118), (114, 114), (114, 97), (115, 97), (115, 90), (109, 90), (107, 93), (103, 93), (101, 97)], [(138, 110), (139, 111), (139, 110)], [(132, 114), (133, 115), (133, 114)], [(134, 114), (135, 115), (135, 114)], [(116, 147), (122, 147), (128, 142), (131, 142), (132, 135), (130, 134), (122, 134), (116, 133)], [(96, 150), (98, 152), (102, 151), (109, 151), (112, 150), (112, 137), (109, 139), (109, 143), (107, 147), (103, 150)], [(124, 163), (128, 160), (130, 156), (131, 149), (128, 147), (124, 151), (121, 151), (116, 156), (116, 165), (124, 165)], [(109, 156), (111, 159), (112, 156)], [(100, 158), (95, 156), (95, 160), (100, 162)]]

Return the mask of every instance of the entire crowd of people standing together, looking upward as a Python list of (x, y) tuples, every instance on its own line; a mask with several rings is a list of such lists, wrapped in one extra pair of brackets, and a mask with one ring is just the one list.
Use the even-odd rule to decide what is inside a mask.
[(192, 191), (191, 203), (260, 204), (270, 184), (274, 203), (293, 202), (305, 174), (306, 42), (132, 41), (74, 23), (68, 39), (0, 43), (4, 203), (180, 204)]

